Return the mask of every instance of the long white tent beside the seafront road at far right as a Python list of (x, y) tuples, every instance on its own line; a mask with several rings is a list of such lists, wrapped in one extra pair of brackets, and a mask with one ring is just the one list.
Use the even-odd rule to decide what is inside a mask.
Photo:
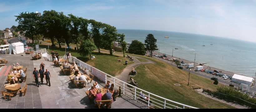
[(251, 85), (253, 83), (253, 77), (234, 74), (231, 81), (239, 84)]

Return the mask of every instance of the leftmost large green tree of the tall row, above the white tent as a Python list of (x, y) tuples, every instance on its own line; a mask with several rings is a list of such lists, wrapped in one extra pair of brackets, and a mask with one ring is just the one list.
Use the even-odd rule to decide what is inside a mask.
[(39, 23), (41, 17), (34, 12), (22, 12), (19, 14), (19, 16), (15, 17), (17, 17), (15, 21), (18, 21), (19, 23), (17, 30), (19, 30), (21, 33), (24, 33), (26, 38), (31, 38), (32, 43), (34, 43), (33, 36), (39, 33)]

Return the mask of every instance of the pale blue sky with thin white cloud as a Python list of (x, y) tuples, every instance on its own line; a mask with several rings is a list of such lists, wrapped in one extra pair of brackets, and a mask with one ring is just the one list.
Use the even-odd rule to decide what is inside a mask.
[(55, 10), (115, 26), (256, 43), (256, 0), (12, 0), (0, 2), (0, 30), (21, 12)]

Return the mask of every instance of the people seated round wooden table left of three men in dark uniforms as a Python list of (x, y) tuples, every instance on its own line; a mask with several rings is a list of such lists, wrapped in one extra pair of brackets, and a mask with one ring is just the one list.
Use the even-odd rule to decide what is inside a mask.
[[(18, 67), (20, 67), (19, 63), (16, 63), (16, 65), (13, 63), (12, 68), (18, 68)], [(8, 72), (7, 78), (11, 83), (15, 84), (16, 82), (18, 82), (18, 78), (20, 78), (23, 83), (23, 79), (25, 78), (25, 76), (26, 75), (24, 71), (21, 68), (19, 68), (19, 70), (18, 69), (15, 69), (14, 71), (10, 70), (10, 72)]]

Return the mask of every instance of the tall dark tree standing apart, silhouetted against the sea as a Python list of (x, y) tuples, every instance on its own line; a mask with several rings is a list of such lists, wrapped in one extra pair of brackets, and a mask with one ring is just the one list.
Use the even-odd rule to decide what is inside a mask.
[(146, 36), (144, 45), (145, 45), (146, 49), (150, 51), (150, 56), (152, 57), (153, 51), (157, 48), (156, 39), (155, 39), (154, 35), (148, 34)]

